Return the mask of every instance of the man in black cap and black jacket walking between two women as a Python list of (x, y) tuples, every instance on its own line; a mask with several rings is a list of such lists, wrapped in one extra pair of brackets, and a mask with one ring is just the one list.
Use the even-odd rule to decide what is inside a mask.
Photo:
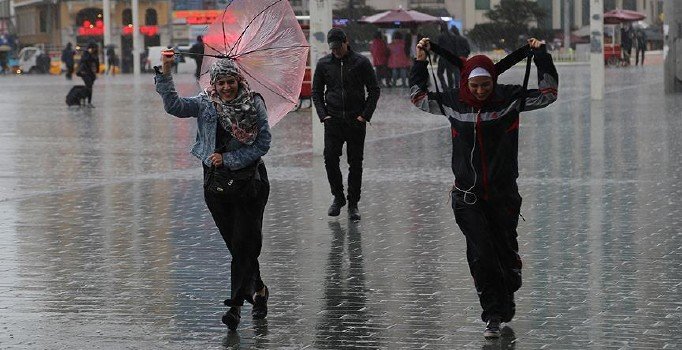
[(346, 142), (348, 157), (348, 216), (360, 220), (358, 201), (362, 184), (362, 159), (366, 123), (379, 100), (379, 85), (369, 60), (351, 50), (343, 30), (327, 33), (332, 53), (322, 57), (313, 77), (313, 102), (324, 123), (324, 165), (334, 201), (329, 216), (338, 216), (346, 205), (339, 168)]

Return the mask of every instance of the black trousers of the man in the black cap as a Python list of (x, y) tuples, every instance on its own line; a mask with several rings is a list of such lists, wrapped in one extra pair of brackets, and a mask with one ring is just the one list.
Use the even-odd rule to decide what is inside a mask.
[(333, 117), (324, 123), (324, 167), (334, 197), (343, 198), (343, 176), (339, 166), (343, 143), (348, 158), (348, 203), (360, 201), (362, 159), (365, 151), (366, 123)]

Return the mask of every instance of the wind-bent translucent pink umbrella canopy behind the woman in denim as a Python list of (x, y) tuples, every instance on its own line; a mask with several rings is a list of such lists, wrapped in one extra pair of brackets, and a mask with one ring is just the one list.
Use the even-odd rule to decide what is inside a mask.
[(234, 0), (204, 34), (199, 84), (222, 58), (235, 61), (249, 87), (260, 93), (274, 126), (297, 104), (309, 45), (287, 0)]

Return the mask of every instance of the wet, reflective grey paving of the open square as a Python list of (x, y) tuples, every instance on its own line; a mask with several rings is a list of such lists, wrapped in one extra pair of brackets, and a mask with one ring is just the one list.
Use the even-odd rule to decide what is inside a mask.
[(588, 68), (560, 66), (560, 99), (522, 117), (524, 285), (494, 341), (448, 203), (448, 123), (406, 90), (368, 128), (359, 223), (326, 216), (310, 111), (274, 128), (270, 313), (228, 333), (194, 122), (165, 115), (151, 76), (102, 77), (80, 110), (63, 77), (0, 77), (0, 349), (680, 348), (682, 98), (651, 65), (607, 69), (591, 102)]

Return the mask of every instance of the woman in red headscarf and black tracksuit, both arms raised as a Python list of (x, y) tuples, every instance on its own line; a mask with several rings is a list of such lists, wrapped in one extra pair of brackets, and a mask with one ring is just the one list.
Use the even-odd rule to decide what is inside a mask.
[(487, 322), (484, 336), (499, 337), (500, 323), (514, 316), (514, 292), (521, 287), (516, 233), (521, 208), (516, 184), (519, 112), (554, 102), (559, 77), (544, 44), (530, 39), (511, 56), (518, 61), (532, 50), (538, 89), (497, 84), (498, 74), (515, 62), (508, 57), (504, 66), (496, 66), (490, 58), (478, 55), (463, 64), (459, 88), (434, 93), (428, 91), (426, 61), (432, 47), (428, 39), (418, 45), (410, 74), (411, 100), (426, 112), (445, 114), (450, 121), (455, 220), (466, 238), (467, 261), (483, 308), (481, 318)]

